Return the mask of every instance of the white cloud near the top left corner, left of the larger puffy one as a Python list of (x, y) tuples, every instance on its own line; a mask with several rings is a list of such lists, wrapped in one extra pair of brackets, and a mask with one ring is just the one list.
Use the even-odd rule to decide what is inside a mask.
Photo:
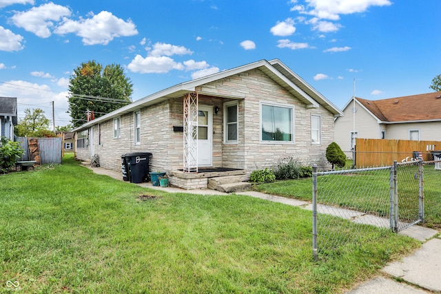
[(48, 38), (51, 35), (50, 28), (54, 26), (52, 21), (60, 21), (61, 17), (68, 17), (70, 14), (69, 8), (50, 2), (25, 12), (17, 12), (11, 20), (19, 28), (41, 38)]

